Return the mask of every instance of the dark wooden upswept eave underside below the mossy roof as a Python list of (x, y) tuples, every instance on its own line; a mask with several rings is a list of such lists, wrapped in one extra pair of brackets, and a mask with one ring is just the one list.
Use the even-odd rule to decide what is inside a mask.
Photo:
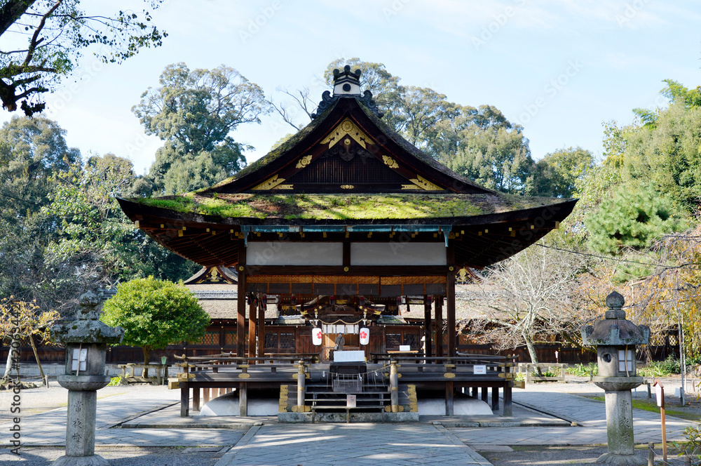
[[(450, 241), (455, 248), (455, 263), (459, 266), (482, 268), (522, 251), (557, 228), (576, 204), (576, 199), (566, 199), (557, 204), (518, 209), (503, 213), (472, 215), (452, 218), (421, 218), (383, 220), (286, 220), (285, 218), (222, 218), (216, 215), (183, 213), (165, 208), (144, 206), (135, 201), (119, 199), (128, 218), (151, 238), (203, 266), (238, 264), (239, 244), (243, 241), (245, 225), (449, 225)], [(286, 234), (285, 241), (381, 241), (389, 242), (388, 234), (368, 237), (362, 233), (307, 233)], [(421, 232), (412, 237), (416, 241), (444, 241), (435, 232)], [(250, 241), (280, 241), (279, 234), (264, 233), (251, 237)], [(353, 267), (350, 272), (343, 267), (314, 267), (329, 274), (374, 273), (372, 269)], [(421, 268), (421, 267), (418, 267)], [(440, 267), (439, 267), (440, 268)], [(280, 270), (304, 267), (275, 267)], [(442, 270), (442, 269), (441, 269)], [(434, 273), (440, 273), (436, 269)], [(275, 270), (266, 272), (276, 272)], [(418, 271), (417, 271), (418, 272)], [(444, 271), (447, 272), (447, 269)]]

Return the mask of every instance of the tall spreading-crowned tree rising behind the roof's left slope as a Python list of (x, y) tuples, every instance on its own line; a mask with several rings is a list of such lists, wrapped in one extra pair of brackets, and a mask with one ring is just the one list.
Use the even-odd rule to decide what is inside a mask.
[(146, 133), (165, 141), (150, 171), (156, 192), (213, 185), (245, 166), (231, 133), (270, 112), (257, 84), (224, 65), (191, 70), (184, 63), (165, 67), (160, 84), (132, 107)]

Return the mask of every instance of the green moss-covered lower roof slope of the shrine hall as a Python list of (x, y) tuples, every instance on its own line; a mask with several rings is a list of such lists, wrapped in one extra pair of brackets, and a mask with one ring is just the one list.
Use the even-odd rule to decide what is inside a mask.
[(508, 194), (209, 194), (129, 201), (179, 213), (259, 220), (428, 220), (508, 213), (569, 199)]

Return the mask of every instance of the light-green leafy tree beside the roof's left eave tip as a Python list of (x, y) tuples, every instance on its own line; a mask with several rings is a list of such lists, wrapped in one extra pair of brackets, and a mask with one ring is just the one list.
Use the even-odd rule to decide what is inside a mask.
[[(135, 229), (116, 198), (132, 194), (135, 175), (131, 161), (106, 154), (57, 178), (59, 186), (48, 210), (60, 218), (60, 237), (50, 251), (69, 263), (82, 263), (94, 283), (154, 275), (185, 279), (197, 269), (192, 262), (158, 246)], [(81, 277), (83, 275), (81, 274)]]

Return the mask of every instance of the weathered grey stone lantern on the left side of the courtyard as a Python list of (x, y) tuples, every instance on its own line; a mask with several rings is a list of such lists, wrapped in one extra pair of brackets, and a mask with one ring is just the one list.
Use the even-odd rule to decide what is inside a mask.
[(51, 328), (51, 339), (66, 345), (65, 375), (58, 382), (68, 389), (66, 454), (56, 466), (102, 466), (108, 462), (95, 455), (95, 415), (97, 390), (109, 383), (104, 375), (107, 345), (122, 341), (124, 330), (97, 320), (100, 298), (88, 291), (81, 296), (77, 319)]

